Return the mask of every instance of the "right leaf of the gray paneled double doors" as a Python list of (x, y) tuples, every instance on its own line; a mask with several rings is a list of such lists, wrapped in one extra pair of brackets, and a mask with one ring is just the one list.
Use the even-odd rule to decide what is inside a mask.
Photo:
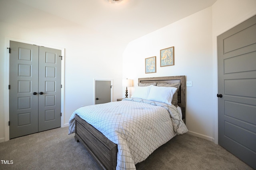
[(61, 51), (39, 47), (38, 131), (60, 127)]

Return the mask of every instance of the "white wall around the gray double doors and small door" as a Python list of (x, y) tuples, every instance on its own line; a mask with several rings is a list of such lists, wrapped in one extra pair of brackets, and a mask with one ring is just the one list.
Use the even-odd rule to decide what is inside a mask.
[[(93, 104), (93, 79), (113, 79), (113, 101), (122, 97), (122, 52), (124, 47), (105, 37), (84, 34), (84, 28), (15, 1), (0, 8), (0, 142), (6, 141), (9, 113), (6, 40), (65, 49), (64, 122), (80, 106)], [(12, 9), (12, 13), (9, 10)], [(27, 15), (33, 14), (33, 15)], [(6, 43), (7, 42), (7, 43)], [(111, 45), (109, 45), (111, 44)], [(4, 82), (5, 81), (5, 82)], [(7, 115), (7, 116), (5, 116)]]

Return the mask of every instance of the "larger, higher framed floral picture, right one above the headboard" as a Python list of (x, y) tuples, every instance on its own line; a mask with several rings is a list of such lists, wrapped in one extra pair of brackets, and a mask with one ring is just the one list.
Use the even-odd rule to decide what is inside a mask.
[(174, 47), (160, 50), (160, 67), (174, 65)]

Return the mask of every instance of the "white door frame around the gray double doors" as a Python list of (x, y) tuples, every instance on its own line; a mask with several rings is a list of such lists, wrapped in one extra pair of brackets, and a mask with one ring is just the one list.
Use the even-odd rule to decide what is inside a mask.
[(32, 45), (38, 45), (38, 46), (44, 46), (44, 47), (48, 47), (48, 48), (53, 48), (53, 49), (58, 49), (61, 50), (61, 54), (62, 54), (62, 61), (61, 61), (61, 84), (62, 84), (62, 88), (61, 88), (61, 127), (64, 127), (64, 63), (65, 63), (65, 49), (62, 47), (56, 47), (53, 45), (46, 45), (43, 43), (38, 43), (38, 42), (34, 42), (34, 41), (27, 41), (24, 39), (16, 39), (16, 38), (12, 38), (12, 37), (6, 37), (5, 38), (5, 56), (4, 56), (4, 141), (9, 141), (10, 140), (10, 136), (9, 136), (9, 89), (8, 89), (8, 85), (9, 85), (9, 80), (10, 80), (10, 54), (9, 54), (9, 47), (10, 47), (10, 41), (17, 41), (20, 43), (27, 43), (27, 44), (32, 44)]

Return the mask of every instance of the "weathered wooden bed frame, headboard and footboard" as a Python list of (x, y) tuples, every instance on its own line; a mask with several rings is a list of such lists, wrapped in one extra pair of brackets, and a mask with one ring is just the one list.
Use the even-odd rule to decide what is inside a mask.
[[(186, 116), (186, 80), (185, 76), (167, 76), (153, 78), (138, 78), (138, 82), (180, 82), (178, 91), (178, 106), (182, 109), (182, 119), (185, 122)], [(92, 157), (98, 162), (99, 166), (104, 170), (115, 170), (117, 162), (117, 145), (106, 138), (100, 131), (92, 125), (81, 119), (78, 115), (75, 116), (76, 133), (75, 139), (81, 142)]]

